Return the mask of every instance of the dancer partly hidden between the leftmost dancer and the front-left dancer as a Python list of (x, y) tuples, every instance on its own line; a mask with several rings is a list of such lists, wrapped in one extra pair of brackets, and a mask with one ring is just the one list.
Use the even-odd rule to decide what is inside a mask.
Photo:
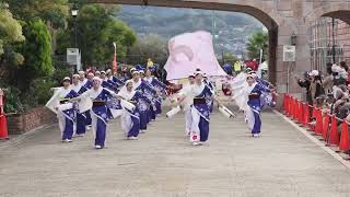
[[(75, 93), (81, 95), (82, 93), (86, 92), (88, 89), (83, 85), (84, 84), (83, 82), (80, 82), (79, 79), (80, 79), (80, 74), (73, 74), (71, 88)], [(83, 137), (85, 132), (86, 132), (86, 113), (77, 112), (77, 125), (74, 127), (74, 136)]]

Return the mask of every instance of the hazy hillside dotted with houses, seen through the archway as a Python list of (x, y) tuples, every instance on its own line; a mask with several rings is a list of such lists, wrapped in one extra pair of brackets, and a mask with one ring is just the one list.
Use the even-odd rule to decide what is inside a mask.
[(217, 51), (234, 54), (243, 54), (249, 35), (262, 30), (262, 24), (247, 14), (210, 10), (122, 5), (118, 18), (140, 36), (159, 34), (171, 38), (205, 30), (218, 35), (214, 40)]

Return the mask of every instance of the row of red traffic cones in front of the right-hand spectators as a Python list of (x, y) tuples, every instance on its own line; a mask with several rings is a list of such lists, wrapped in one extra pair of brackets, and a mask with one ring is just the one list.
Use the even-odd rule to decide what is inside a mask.
[[(318, 136), (322, 136), (326, 144), (338, 146), (342, 152), (350, 151), (349, 123), (338, 120), (335, 115), (326, 114), (323, 117), (322, 109), (310, 106), (291, 95), (284, 95), (284, 114), (303, 126), (310, 126)], [(315, 118), (315, 126), (310, 124), (310, 117)], [(341, 123), (341, 134), (338, 134), (338, 123)]]

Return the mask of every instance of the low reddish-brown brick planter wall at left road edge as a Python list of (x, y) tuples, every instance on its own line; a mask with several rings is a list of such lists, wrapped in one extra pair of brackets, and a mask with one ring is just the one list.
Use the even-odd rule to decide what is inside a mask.
[(9, 135), (21, 135), (32, 129), (57, 123), (56, 114), (46, 107), (8, 116)]

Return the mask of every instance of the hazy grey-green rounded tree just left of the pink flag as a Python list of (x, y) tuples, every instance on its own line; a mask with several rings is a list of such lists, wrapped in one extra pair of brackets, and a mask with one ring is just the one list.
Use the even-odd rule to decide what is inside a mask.
[(155, 34), (140, 37), (137, 43), (130, 48), (128, 62), (133, 65), (145, 65), (148, 58), (153, 62), (164, 66), (167, 60), (167, 43)]

